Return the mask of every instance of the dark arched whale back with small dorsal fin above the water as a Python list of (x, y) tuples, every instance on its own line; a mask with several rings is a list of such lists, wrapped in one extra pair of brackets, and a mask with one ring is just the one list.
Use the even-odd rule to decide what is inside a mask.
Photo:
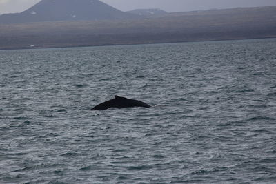
[(150, 108), (150, 105), (133, 99), (127, 99), (121, 96), (115, 96), (115, 99), (110, 101), (105, 101), (94, 108), (92, 110), (107, 110), (109, 108), (133, 108), (133, 107), (143, 107)]

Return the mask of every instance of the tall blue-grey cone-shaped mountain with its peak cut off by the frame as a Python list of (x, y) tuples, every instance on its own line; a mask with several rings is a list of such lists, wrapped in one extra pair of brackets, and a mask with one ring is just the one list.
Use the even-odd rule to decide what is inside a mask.
[(30, 23), (45, 21), (95, 21), (133, 19), (134, 14), (121, 12), (99, 0), (42, 0), (26, 11), (2, 14), (0, 23)]

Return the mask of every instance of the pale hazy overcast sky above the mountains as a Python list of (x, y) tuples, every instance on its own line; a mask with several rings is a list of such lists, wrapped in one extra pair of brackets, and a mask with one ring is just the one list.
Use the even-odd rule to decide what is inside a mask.
[[(0, 14), (22, 12), (40, 0), (0, 0)], [(168, 12), (250, 6), (276, 6), (276, 0), (102, 0), (119, 10), (161, 8)]]

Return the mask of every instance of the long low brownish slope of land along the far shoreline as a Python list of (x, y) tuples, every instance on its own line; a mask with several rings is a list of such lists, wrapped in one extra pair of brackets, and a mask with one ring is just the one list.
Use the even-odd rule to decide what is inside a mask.
[(0, 50), (276, 38), (276, 6), (0, 25)]

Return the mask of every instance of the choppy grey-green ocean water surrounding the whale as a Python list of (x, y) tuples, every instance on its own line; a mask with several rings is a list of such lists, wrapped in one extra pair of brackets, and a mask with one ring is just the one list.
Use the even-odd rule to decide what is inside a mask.
[(2, 50), (0, 95), (0, 183), (276, 183), (276, 39)]

